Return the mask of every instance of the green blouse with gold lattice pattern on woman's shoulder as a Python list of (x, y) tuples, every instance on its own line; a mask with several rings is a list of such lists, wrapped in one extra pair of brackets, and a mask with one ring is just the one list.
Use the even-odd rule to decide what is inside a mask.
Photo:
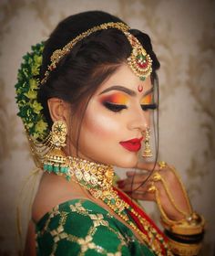
[(87, 199), (53, 208), (36, 224), (37, 255), (155, 255), (126, 225)]

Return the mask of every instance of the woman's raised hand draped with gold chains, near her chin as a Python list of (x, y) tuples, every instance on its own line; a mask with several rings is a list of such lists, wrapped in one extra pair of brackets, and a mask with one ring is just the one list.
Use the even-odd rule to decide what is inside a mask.
[[(166, 165), (160, 168), (157, 164), (153, 174), (151, 170), (154, 167), (154, 163), (138, 163), (137, 167), (141, 172), (127, 172), (127, 178), (118, 181), (119, 188), (132, 198), (156, 201), (156, 193), (148, 191), (152, 186), (155, 186), (159, 193), (161, 208), (169, 219), (179, 220), (189, 216), (192, 209), (189, 206), (187, 193), (181, 187), (178, 175), (172, 171), (172, 166)], [(161, 177), (161, 179), (154, 181), (155, 175)]]

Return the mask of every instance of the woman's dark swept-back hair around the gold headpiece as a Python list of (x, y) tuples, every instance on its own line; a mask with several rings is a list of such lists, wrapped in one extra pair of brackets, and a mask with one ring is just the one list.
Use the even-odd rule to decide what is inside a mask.
[[(69, 41), (87, 29), (107, 22), (123, 22), (116, 16), (101, 11), (89, 11), (68, 16), (61, 21), (46, 41), (41, 79), (44, 78), (50, 58), (56, 49), (63, 48)], [(124, 23), (124, 22), (123, 22)], [(152, 81), (159, 60), (153, 52), (150, 38), (136, 29), (129, 31), (138, 38), (153, 61)], [(38, 93), (38, 101), (44, 107), (44, 114), (49, 127), (52, 120), (47, 108), (47, 100), (53, 97), (71, 103), (72, 110), (79, 114), (81, 124), (87, 102), (97, 91), (98, 86), (113, 74), (128, 59), (131, 47), (127, 37), (118, 29), (110, 28), (92, 33), (79, 41), (74, 48), (51, 71), (50, 76)], [(81, 109), (81, 112), (80, 112)]]

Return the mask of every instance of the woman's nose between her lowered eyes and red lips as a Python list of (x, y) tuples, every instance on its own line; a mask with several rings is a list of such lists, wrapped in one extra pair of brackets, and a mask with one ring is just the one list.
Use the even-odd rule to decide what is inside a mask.
[(146, 131), (150, 126), (150, 113), (144, 112), (141, 108), (132, 113), (128, 122), (129, 130), (139, 130), (140, 133)]

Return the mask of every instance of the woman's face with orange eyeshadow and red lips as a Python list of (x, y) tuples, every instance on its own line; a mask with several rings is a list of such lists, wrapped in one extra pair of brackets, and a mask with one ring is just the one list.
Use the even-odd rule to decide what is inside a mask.
[[(139, 80), (123, 64), (88, 103), (78, 156), (119, 167), (137, 165), (140, 145), (145, 139), (143, 132), (149, 127), (150, 108), (154, 107), (152, 95), (150, 78)], [(75, 142), (72, 137), (72, 155), (76, 152)]]

